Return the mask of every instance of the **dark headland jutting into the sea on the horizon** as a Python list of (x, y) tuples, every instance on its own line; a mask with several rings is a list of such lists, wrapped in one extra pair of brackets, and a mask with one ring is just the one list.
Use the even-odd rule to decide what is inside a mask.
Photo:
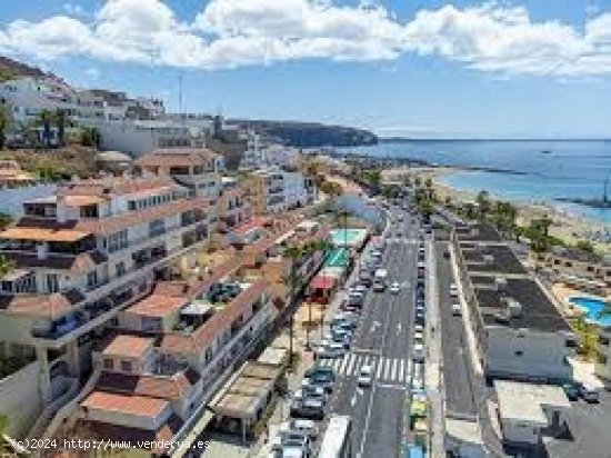
[(264, 138), (297, 148), (357, 147), (378, 143), (378, 137), (374, 133), (343, 126), (261, 120), (234, 120), (231, 123), (238, 123), (244, 129), (254, 129)]

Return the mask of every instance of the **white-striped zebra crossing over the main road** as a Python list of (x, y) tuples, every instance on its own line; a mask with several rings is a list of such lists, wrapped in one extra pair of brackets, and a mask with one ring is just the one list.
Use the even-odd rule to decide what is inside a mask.
[(349, 352), (342, 358), (322, 359), (320, 366), (331, 367), (340, 377), (358, 377), (363, 366), (371, 366), (373, 379), (380, 381), (405, 382), (410, 374), (410, 360), (387, 358), (378, 355)]

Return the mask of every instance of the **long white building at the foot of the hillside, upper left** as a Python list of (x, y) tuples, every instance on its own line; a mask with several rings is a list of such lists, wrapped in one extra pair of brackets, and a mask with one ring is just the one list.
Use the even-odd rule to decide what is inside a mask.
[(161, 148), (191, 147), (193, 137), (188, 126), (159, 120), (101, 121), (96, 123), (101, 148), (142, 156)]

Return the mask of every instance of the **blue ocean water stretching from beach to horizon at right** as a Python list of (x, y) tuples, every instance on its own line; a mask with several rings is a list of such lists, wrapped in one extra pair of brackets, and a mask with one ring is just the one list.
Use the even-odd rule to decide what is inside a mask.
[(555, 200), (601, 199), (605, 179), (610, 180), (608, 196), (611, 198), (611, 141), (414, 140), (342, 151), (495, 170), (457, 171), (443, 177), (441, 182), (467, 191), (485, 189), (501, 199), (551, 205), (570, 215), (611, 226), (609, 208)]

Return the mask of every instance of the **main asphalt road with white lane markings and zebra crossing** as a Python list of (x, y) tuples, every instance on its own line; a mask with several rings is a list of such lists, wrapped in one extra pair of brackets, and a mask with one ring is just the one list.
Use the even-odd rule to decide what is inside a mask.
[[(418, 229), (409, 215), (399, 222), (393, 211), (390, 237), (381, 268), (388, 269), (388, 282), (398, 281), (398, 295), (370, 291), (362, 310), (361, 323), (350, 352), (330, 362), (339, 382), (331, 409), (352, 418), (352, 451), (355, 457), (398, 457), (403, 436), (405, 384), (411, 367), (413, 302)], [(402, 237), (397, 238), (398, 230)], [(372, 366), (373, 384), (358, 387), (360, 368)]]

